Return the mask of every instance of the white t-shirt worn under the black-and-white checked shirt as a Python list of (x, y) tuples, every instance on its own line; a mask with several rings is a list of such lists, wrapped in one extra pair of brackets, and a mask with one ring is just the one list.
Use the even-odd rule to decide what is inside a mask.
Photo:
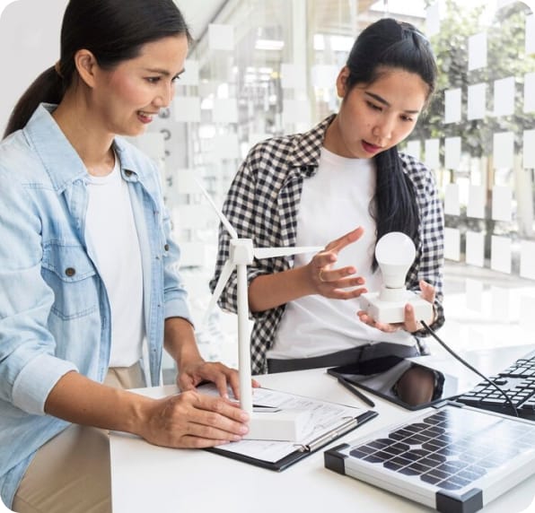
[[(368, 291), (379, 291), (382, 283), (381, 271), (372, 272), (375, 222), (369, 210), (375, 172), (372, 159), (347, 159), (322, 148), (318, 172), (303, 182), (297, 214), (296, 246), (325, 246), (358, 226), (364, 228), (363, 237), (342, 249), (333, 268), (354, 265)], [(310, 258), (297, 255), (294, 266), (308, 264)], [(330, 300), (314, 294), (291, 301), (267, 358), (311, 358), (373, 342), (414, 345), (404, 331), (385, 334), (365, 325), (356, 315), (359, 309), (358, 298)]]

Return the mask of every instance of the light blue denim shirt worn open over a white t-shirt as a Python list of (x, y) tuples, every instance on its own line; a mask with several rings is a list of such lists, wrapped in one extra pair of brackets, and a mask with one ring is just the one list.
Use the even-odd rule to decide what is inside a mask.
[[(101, 382), (110, 358), (110, 304), (85, 241), (88, 174), (41, 104), (0, 143), (0, 495), (13, 501), (35, 451), (66, 429), (44, 404), (66, 372)], [(160, 382), (163, 324), (190, 319), (157, 167), (120, 138), (143, 265), (152, 385)]]

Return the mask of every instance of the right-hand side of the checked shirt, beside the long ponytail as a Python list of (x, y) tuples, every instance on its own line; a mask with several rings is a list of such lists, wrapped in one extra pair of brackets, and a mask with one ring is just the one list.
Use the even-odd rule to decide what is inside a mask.
[[(407, 286), (411, 291), (420, 291), (419, 281), (425, 280), (434, 286), (434, 330), (444, 324), (443, 310), (443, 251), (444, 220), (443, 205), (438, 197), (431, 170), (413, 157), (400, 153), (403, 168), (415, 188), (420, 213), (419, 246), (414, 264), (408, 271)], [(425, 330), (416, 333), (428, 335)]]

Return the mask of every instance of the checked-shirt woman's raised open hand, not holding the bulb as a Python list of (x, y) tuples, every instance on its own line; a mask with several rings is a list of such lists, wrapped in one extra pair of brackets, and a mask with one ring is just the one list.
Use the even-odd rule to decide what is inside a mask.
[[(348, 265), (338, 269), (332, 268), (338, 260), (338, 253), (343, 248), (346, 248), (347, 245), (360, 239), (363, 233), (364, 229), (362, 227), (349, 231), (339, 239), (329, 242), (323, 251), (320, 251), (311, 259), (306, 265), (308, 281), (312, 289), (311, 293), (336, 300), (349, 300), (357, 298), (363, 292), (366, 292), (366, 289), (362, 287), (364, 278), (355, 276), (355, 267)], [(355, 289), (355, 287), (359, 288)], [(352, 289), (346, 290), (348, 288)]]

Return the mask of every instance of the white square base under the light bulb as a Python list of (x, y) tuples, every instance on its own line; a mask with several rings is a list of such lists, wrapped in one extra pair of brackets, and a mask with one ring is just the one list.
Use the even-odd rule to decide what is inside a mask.
[[(384, 300), (384, 291), (397, 291), (396, 300)], [(418, 320), (433, 318), (433, 305), (418, 294), (402, 289), (382, 289), (381, 292), (366, 292), (360, 296), (360, 306), (375, 321), (385, 324), (401, 323), (405, 320), (405, 305), (410, 303)], [(387, 294), (387, 297), (389, 295)]]

